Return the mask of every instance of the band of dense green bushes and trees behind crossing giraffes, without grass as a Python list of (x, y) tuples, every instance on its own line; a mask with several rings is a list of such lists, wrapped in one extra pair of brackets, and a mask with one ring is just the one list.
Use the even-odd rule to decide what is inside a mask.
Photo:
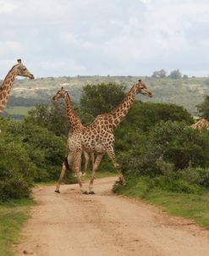
[[(74, 111), (89, 125), (98, 114), (115, 108), (125, 92), (124, 86), (113, 83), (87, 85)], [(146, 176), (152, 185), (178, 192), (209, 186), (209, 131), (191, 129), (193, 122), (178, 105), (135, 100), (114, 132), (128, 185), (130, 177), (137, 181)], [(0, 201), (30, 197), (34, 182), (57, 181), (70, 129), (63, 102), (41, 103), (19, 122), (1, 118), (0, 127)], [(114, 171), (107, 157), (100, 170)], [(73, 180), (69, 171), (65, 181)]]

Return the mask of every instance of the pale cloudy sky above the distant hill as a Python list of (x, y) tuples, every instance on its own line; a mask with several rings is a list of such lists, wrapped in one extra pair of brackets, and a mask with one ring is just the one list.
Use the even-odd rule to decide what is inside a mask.
[(209, 0), (0, 0), (0, 79), (209, 75)]

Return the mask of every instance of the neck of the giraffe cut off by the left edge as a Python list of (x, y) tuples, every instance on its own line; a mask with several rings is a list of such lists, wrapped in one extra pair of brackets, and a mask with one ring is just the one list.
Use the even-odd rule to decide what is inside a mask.
[(8, 75), (6, 75), (2, 86), (0, 87), (0, 114), (3, 113), (3, 109), (6, 107), (8, 102), (8, 95), (13, 86), (15, 76), (14, 70), (10, 70)]

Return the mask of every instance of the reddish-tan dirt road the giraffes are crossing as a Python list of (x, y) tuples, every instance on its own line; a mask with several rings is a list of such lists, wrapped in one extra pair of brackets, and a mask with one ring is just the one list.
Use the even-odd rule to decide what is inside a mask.
[[(78, 185), (35, 189), (38, 203), (23, 230), (17, 255), (208, 256), (209, 232), (135, 199), (117, 197), (117, 178), (95, 181), (96, 195)], [(87, 186), (87, 185), (86, 185)]]

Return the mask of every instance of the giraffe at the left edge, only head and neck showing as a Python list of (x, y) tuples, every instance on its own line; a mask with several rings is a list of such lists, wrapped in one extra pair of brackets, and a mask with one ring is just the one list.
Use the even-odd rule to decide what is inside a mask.
[(27, 68), (24, 64), (22, 64), (22, 61), (19, 58), (18, 64), (15, 64), (12, 69), (8, 71), (8, 75), (6, 75), (5, 79), (3, 80), (2, 86), (0, 86), (0, 115), (3, 114), (3, 109), (6, 107), (9, 92), (13, 86), (14, 79), (17, 75), (34, 79), (34, 75), (32, 75), (30, 71), (27, 70)]

